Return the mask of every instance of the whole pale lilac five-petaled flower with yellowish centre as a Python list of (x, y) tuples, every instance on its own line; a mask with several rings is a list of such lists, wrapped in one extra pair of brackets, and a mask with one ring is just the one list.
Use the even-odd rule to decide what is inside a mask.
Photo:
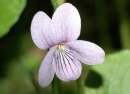
[(104, 51), (94, 43), (77, 40), (81, 19), (77, 9), (69, 3), (60, 5), (52, 19), (44, 12), (35, 14), (31, 35), (36, 46), (49, 49), (39, 69), (39, 84), (49, 85), (56, 73), (62, 81), (76, 80), (81, 74), (81, 62), (101, 64)]

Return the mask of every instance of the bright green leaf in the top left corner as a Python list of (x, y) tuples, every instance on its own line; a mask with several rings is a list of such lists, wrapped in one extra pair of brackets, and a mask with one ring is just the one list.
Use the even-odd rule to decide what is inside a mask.
[(26, 0), (0, 0), (0, 38), (18, 21)]

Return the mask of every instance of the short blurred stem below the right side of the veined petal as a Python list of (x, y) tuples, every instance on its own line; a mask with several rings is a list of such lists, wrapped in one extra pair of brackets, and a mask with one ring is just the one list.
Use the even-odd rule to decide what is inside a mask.
[(81, 76), (77, 79), (77, 94), (84, 94), (84, 81), (82, 80)]

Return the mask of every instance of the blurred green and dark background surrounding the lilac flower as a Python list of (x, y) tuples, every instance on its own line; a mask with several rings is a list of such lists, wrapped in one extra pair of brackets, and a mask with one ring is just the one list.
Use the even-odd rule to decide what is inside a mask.
[[(130, 94), (130, 0), (67, 0), (79, 11), (79, 39), (102, 47), (102, 65), (83, 66), (85, 94)], [(52, 94), (41, 88), (38, 69), (47, 51), (38, 49), (30, 34), (38, 11), (53, 15), (50, 0), (0, 1), (0, 94)], [(60, 81), (60, 94), (77, 94), (75, 81)], [(42, 93), (41, 93), (42, 92)]]

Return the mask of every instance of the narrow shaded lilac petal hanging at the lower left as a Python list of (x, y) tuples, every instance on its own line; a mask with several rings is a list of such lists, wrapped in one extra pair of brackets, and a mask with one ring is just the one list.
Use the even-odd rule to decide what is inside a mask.
[(48, 86), (53, 77), (54, 77), (54, 68), (52, 64), (53, 55), (56, 50), (56, 47), (53, 47), (50, 49), (50, 51), (45, 56), (45, 59), (43, 60), (40, 69), (39, 69), (39, 84), (42, 87)]

